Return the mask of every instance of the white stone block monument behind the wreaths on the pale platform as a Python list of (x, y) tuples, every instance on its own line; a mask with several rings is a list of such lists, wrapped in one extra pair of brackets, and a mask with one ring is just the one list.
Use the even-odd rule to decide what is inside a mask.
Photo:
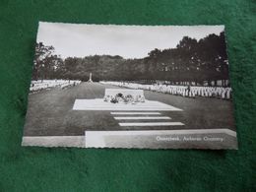
[(105, 89), (105, 96), (116, 96), (122, 94), (123, 96), (142, 96), (144, 97), (143, 90), (129, 90), (129, 89)]

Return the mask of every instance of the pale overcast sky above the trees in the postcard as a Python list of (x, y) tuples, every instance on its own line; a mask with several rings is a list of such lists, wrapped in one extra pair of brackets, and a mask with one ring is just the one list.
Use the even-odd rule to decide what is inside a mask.
[(142, 27), (40, 22), (36, 41), (52, 45), (62, 58), (95, 54), (143, 58), (155, 48), (176, 47), (185, 35), (200, 39), (223, 31), (224, 26)]

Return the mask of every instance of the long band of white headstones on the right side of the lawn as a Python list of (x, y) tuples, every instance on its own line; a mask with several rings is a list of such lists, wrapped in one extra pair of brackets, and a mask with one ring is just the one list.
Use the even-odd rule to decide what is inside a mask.
[(220, 97), (223, 99), (231, 98), (231, 88), (224, 87), (196, 87), (196, 86), (170, 86), (170, 85), (142, 85), (127, 82), (100, 82), (102, 84), (110, 84), (119, 87), (130, 89), (141, 89), (175, 96), (205, 96), (205, 97)]

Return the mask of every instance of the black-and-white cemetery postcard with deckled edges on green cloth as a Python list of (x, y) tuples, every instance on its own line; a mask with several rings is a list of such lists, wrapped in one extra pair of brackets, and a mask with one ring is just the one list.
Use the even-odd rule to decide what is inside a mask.
[(237, 149), (224, 26), (39, 23), (23, 146)]

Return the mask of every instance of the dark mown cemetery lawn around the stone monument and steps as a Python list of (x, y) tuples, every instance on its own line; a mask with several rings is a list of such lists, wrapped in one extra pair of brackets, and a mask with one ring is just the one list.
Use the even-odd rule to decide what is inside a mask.
[[(185, 124), (183, 126), (121, 127), (118, 125), (118, 120), (113, 118), (114, 115), (110, 114), (111, 111), (72, 110), (77, 98), (102, 98), (104, 90), (107, 88), (121, 89), (99, 83), (82, 83), (64, 90), (54, 88), (49, 91), (44, 90), (31, 94), (29, 96), (24, 136), (79, 136), (85, 135), (86, 130), (220, 128), (235, 130), (232, 102), (219, 98), (189, 98), (144, 91), (146, 99), (158, 100), (181, 108), (183, 111), (160, 111), (160, 113), (171, 117), (170, 120), (165, 121), (182, 122)], [(133, 122), (135, 121), (133, 120)], [(158, 122), (158, 120), (154, 120), (154, 122)]]

